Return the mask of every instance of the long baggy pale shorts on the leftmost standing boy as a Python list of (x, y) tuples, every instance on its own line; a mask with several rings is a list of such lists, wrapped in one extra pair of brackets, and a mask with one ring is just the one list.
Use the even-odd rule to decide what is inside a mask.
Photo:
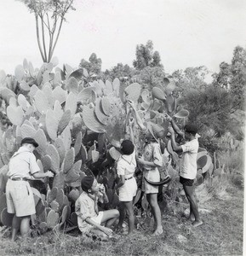
[(7, 212), (15, 213), (17, 217), (36, 213), (35, 201), (31, 186), (27, 181), (8, 179), (6, 184)]

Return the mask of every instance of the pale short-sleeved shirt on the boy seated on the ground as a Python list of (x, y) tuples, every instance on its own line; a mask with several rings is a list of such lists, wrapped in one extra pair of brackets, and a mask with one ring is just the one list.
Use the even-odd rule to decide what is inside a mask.
[(82, 194), (78, 197), (75, 202), (75, 212), (77, 214), (77, 225), (81, 232), (88, 232), (91, 229), (91, 225), (88, 224), (85, 219), (86, 218), (94, 218), (98, 215), (95, 212), (94, 204), (97, 201), (94, 201), (86, 192), (82, 192)]

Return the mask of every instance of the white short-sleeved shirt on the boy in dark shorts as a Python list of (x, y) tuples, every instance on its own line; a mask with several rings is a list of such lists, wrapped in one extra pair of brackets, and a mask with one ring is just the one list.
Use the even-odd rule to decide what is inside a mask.
[(190, 142), (181, 145), (183, 150), (180, 176), (188, 179), (195, 179), (197, 177), (197, 152), (199, 143), (197, 139), (193, 139)]

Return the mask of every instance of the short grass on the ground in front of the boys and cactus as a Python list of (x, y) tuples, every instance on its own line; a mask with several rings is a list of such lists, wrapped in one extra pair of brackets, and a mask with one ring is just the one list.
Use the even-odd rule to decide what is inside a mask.
[[(134, 237), (115, 241), (93, 241), (77, 231), (71, 234), (50, 231), (43, 236), (16, 242), (10, 231), (1, 232), (0, 255), (243, 255), (243, 189), (228, 186), (221, 196), (197, 197), (203, 225), (194, 229), (180, 211), (163, 213), (164, 233), (152, 237), (152, 221)], [(205, 210), (204, 210), (205, 209)]]

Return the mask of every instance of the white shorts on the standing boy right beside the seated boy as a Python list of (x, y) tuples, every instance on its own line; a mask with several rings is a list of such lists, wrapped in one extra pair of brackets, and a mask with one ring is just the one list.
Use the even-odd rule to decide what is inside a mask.
[(118, 190), (119, 201), (133, 201), (134, 196), (137, 193), (137, 183), (134, 177), (125, 180), (125, 183)]

